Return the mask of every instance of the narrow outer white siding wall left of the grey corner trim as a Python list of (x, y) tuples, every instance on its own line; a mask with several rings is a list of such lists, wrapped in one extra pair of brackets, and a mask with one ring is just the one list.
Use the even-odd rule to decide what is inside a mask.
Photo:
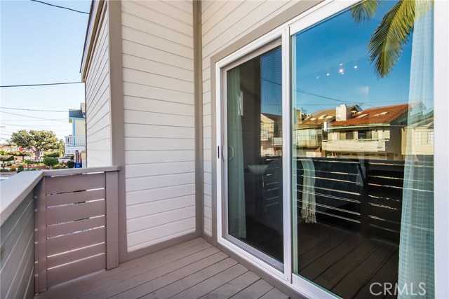
[(97, 41), (86, 77), (88, 167), (112, 164), (107, 9), (102, 11), (98, 27)]

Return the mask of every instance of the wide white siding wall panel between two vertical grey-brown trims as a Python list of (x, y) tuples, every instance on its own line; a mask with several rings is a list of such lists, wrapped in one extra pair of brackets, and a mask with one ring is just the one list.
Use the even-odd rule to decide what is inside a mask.
[(192, 1), (122, 1), (128, 251), (195, 231)]

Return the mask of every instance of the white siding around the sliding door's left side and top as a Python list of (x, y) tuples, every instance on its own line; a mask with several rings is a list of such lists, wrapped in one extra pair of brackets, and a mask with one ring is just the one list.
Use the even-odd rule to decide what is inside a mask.
[(210, 57), (275, 15), (286, 11), (294, 2), (203, 1), (204, 232), (207, 235), (212, 235)]

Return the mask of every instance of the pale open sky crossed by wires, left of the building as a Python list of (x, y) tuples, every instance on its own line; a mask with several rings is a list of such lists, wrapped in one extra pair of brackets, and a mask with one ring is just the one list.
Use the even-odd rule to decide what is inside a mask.
[[(90, 0), (43, 1), (85, 12), (91, 6)], [(81, 81), (79, 68), (88, 15), (34, 1), (1, 0), (0, 19), (1, 85)], [(83, 84), (0, 90), (0, 106), (7, 108), (68, 111), (79, 109), (81, 102)], [(72, 132), (68, 112), (0, 111), (0, 142), (21, 129), (53, 130), (60, 139)]]

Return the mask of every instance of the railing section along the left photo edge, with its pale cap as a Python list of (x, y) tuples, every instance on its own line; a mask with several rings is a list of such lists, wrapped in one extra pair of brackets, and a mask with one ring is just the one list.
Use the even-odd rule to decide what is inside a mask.
[(41, 176), (21, 172), (1, 182), (0, 298), (33, 298), (33, 196)]

